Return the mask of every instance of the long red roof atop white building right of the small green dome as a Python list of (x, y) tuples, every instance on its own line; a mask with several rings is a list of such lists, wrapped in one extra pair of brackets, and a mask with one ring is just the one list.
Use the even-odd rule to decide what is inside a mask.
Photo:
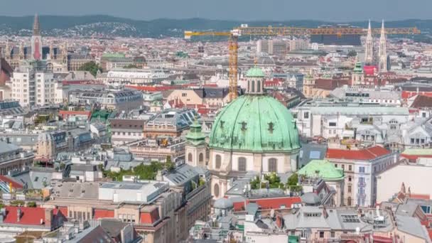
[(386, 148), (382, 146), (373, 146), (370, 148), (365, 148), (362, 150), (347, 150), (347, 149), (337, 149), (328, 148), (326, 158), (342, 158), (348, 160), (361, 160), (369, 161), (371, 159), (384, 156), (391, 153)]

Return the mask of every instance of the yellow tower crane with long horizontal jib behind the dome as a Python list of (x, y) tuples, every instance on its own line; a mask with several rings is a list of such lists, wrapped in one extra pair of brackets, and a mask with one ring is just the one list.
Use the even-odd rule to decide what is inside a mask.
[[(413, 35), (419, 34), (418, 28), (386, 28), (387, 35)], [(372, 34), (381, 33), (381, 28), (372, 28)], [(192, 36), (227, 36), (228, 41), (228, 68), (229, 68), (229, 100), (237, 98), (237, 71), (238, 71), (238, 38), (239, 36), (311, 36), (311, 35), (366, 35), (367, 28), (347, 27), (249, 27), (247, 24), (234, 28), (232, 31), (185, 31), (185, 39)]]

